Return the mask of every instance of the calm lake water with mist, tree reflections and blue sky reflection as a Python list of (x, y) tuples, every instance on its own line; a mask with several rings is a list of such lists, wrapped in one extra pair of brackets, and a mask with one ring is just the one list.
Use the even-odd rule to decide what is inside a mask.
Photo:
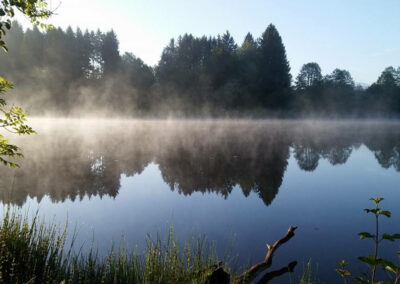
[[(179, 239), (205, 234), (221, 256), (233, 242), (239, 263), (296, 225), (273, 268), (309, 259), (328, 283), (336, 261), (372, 252), (357, 233), (373, 229), (370, 197), (383, 196), (400, 232), (400, 123), (384, 121), (34, 121), (21, 138), (21, 169), (0, 168), (2, 204), (76, 226), (105, 252), (124, 235), (173, 224)], [(4, 211), (4, 210), (3, 210)], [(396, 260), (399, 244), (381, 253)], [(284, 276), (277, 283), (285, 283)]]

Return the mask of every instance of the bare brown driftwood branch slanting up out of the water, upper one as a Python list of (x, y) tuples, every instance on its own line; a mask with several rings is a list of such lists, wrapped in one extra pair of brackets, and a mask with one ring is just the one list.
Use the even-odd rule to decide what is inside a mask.
[[(290, 226), (288, 231), (286, 232), (285, 236), (281, 239), (277, 240), (272, 246), (267, 244), (268, 252), (265, 256), (265, 259), (252, 267), (246, 270), (239, 276), (234, 279), (234, 283), (249, 283), (253, 281), (257, 275), (263, 272), (265, 269), (269, 268), (272, 265), (272, 257), (274, 256), (275, 251), (284, 243), (289, 241), (294, 236), (294, 231), (297, 227)], [(293, 265), (293, 264), (292, 264)], [(294, 268), (294, 266), (293, 266)]]

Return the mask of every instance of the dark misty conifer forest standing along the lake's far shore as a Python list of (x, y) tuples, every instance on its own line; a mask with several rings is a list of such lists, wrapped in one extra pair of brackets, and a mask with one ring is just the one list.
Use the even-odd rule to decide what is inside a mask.
[(33, 115), (385, 116), (400, 115), (400, 67), (363, 88), (342, 69), (304, 64), (292, 78), (282, 38), (269, 25), (241, 45), (217, 37), (171, 39), (157, 66), (120, 54), (114, 31), (24, 30), (18, 22), (0, 52), (12, 100)]

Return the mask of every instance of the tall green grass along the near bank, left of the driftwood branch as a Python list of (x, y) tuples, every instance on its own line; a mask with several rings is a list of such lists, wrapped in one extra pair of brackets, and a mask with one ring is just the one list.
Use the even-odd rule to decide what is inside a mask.
[(95, 249), (74, 253), (74, 241), (66, 247), (66, 240), (66, 227), (7, 210), (0, 226), (0, 283), (204, 283), (218, 263), (212, 243), (197, 238), (180, 246), (172, 228), (165, 239), (148, 237), (143, 254), (123, 241), (105, 257)]

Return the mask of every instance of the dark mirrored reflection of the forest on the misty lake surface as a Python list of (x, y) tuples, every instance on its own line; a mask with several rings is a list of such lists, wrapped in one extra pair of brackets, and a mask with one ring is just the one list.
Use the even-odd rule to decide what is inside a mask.
[[(116, 127), (118, 126), (118, 127)], [(43, 128), (43, 129), (42, 129)], [(62, 121), (16, 141), (20, 169), (0, 167), (0, 199), (22, 205), (27, 196), (54, 201), (115, 197), (121, 174), (159, 165), (171, 190), (228, 197), (239, 185), (270, 204), (282, 184), (290, 149), (301, 169), (321, 158), (343, 164), (364, 144), (384, 168), (400, 171), (400, 125), (311, 122), (104, 122)]]

